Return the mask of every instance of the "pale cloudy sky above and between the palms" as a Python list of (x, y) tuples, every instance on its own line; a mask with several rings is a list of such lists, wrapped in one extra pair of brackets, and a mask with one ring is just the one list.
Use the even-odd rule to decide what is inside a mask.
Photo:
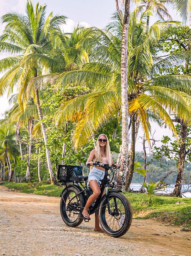
[[(0, 17), (2, 15), (15, 11), (19, 13), (24, 13), (27, 0), (0, 0)], [(104, 28), (113, 12), (116, 10), (115, 0), (32, 0), (33, 6), (39, 2), (40, 5), (44, 3), (47, 4), (47, 13), (53, 11), (53, 14), (62, 14), (67, 17), (66, 25), (63, 26), (64, 32), (71, 32), (73, 28), (78, 25), (78, 23), (84, 27), (96, 26), (99, 28)], [(170, 15), (175, 20), (180, 20), (175, 10), (169, 8)], [(157, 18), (153, 17), (151, 22), (155, 21)], [(0, 21), (0, 33), (3, 31), (3, 25)], [(0, 59), (4, 58), (0, 55)], [(0, 73), (0, 76), (2, 74)], [(15, 93), (14, 91), (13, 93)], [(4, 95), (0, 97), (0, 119), (3, 117), (3, 113), (10, 108), (8, 104), (7, 96)], [(155, 132), (154, 139), (160, 140), (163, 135), (168, 135), (172, 137), (172, 132), (168, 128), (160, 128), (157, 124), (152, 123), (152, 134)], [(136, 143), (136, 150), (142, 150), (142, 140), (143, 135), (142, 130), (139, 129), (138, 141)], [(152, 136), (151, 136), (152, 137)], [(157, 146), (159, 146), (159, 142)], [(147, 149), (149, 150), (149, 148)]]

